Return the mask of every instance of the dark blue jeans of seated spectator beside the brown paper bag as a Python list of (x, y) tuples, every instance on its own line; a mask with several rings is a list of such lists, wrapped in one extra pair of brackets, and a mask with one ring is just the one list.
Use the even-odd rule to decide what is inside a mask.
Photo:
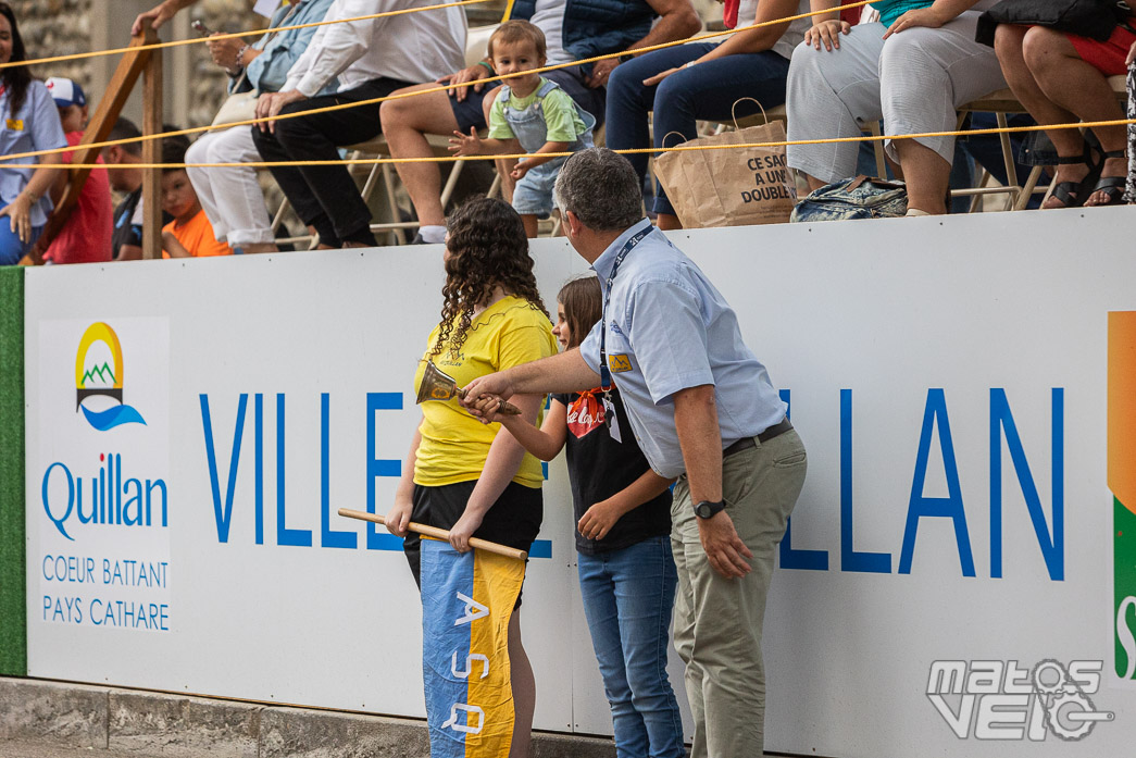
[[(695, 120), (730, 120), (730, 110), (740, 98), (753, 98), (766, 108), (785, 102), (785, 77), (788, 59), (772, 51), (738, 53), (677, 70), (654, 86), (643, 86), (668, 68), (678, 68), (701, 58), (715, 44), (709, 42), (680, 44), (655, 50), (619, 64), (608, 81), (607, 144), (612, 150), (648, 148), (648, 115), (654, 111), (654, 147), (674, 147), (683, 139), (693, 140)], [(758, 107), (750, 100), (737, 103), (737, 117), (752, 116)], [(682, 134), (670, 134), (678, 132)], [(667, 139), (667, 135), (670, 138)], [(638, 172), (646, 175), (648, 156), (627, 156)], [(660, 188), (654, 211), (674, 214), (675, 209)]]

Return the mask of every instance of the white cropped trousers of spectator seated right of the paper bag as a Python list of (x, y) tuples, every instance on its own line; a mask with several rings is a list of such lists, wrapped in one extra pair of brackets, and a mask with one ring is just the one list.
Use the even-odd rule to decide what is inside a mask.
[[(975, 42), (979, 15), (968, 10), (941, 28), (908, 28), (887, 40), (883, 24), (860, 24), (832, 52), (802, 42), (788, 68), (788, 139), (857, 136), (860, 123), (880, 118), (885, 134), (954, 131), (960, 106), (1006, 85), (994, 49)], [(953, 136), (917, 142), (952, 163)], [(788, 165), (835, 182), (855, 174), (858, 151), (858, 142), (791, 144)], [(891, 142), (887, 152), (897, 159)]]

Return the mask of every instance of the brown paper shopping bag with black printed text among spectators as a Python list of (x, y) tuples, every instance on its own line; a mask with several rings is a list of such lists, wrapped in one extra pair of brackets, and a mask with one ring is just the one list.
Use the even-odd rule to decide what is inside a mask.
[[(785, 124), (767, 120), (690, 140), (684, 147), (784, 141)], [(675, 150), (654, 159), (654, 173), (686, 228), (780, 224), (788, 220), (796, 203), (784, 145)]]

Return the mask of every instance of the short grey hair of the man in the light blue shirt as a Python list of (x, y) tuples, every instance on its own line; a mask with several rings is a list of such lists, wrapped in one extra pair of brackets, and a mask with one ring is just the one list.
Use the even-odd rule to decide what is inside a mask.
[(560, 213), (569, 210), (591, 230), (623, 232), (643, 218), (643, 188), (630, 161), (607, 148), (568, 158), (556, 186)]

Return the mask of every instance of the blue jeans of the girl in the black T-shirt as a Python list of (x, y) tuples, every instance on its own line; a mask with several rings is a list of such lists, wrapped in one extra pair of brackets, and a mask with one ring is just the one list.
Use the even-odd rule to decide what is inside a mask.
[(618, 758), (682, 758), (683, 719), (667, 677), (678, 581), (670, 539), (578, 556), (592, 647), (611, 703)]

